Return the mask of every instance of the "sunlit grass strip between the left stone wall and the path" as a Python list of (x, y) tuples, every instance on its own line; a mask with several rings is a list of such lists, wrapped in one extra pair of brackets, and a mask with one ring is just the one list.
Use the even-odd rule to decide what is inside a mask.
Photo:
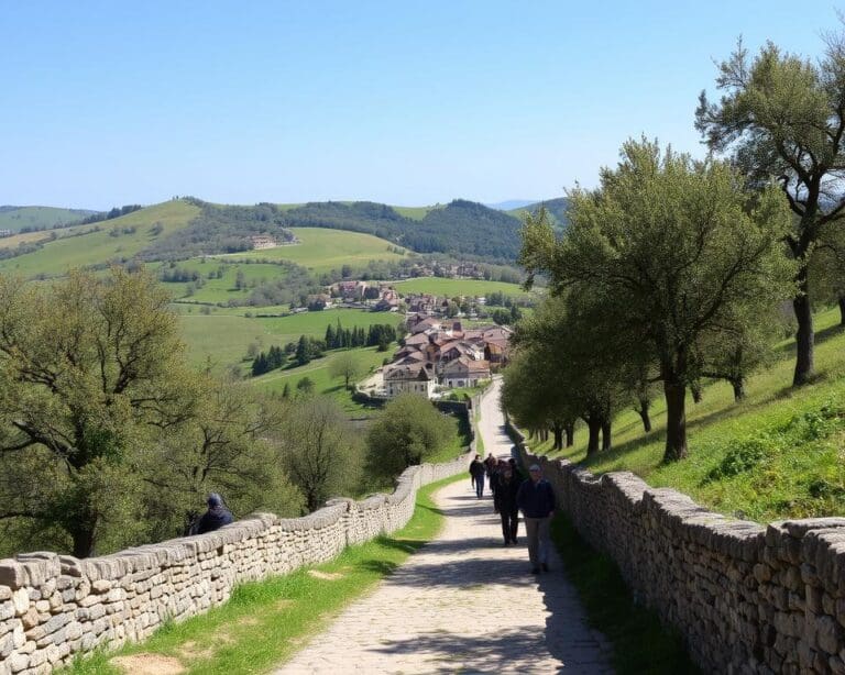
[(421, 488), (414, 517), (391, 536), (350, 546), (330, 563), (239, 586), (226, 605), (183, 623), (167, 623), (141, 644), (78, 659), (66, 675), (118, 675), (121, 671), (110, 663), (113, 656), (141, 653), (174, 657), (197, 675), (265, 672), (289, 659), (347, 605), (432, 539), (443, 516), (431, 496), (459, 479), (463, 476)]

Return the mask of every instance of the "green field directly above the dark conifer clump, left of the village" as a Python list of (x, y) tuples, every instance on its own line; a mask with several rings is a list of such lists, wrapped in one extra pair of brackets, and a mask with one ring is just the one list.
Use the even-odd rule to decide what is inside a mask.
[(199, 308), (190, 308), (194, 311), (187, 313), (186, 309), (185, 306), (180, 307), (180, 320), (191, 362), (204, 364), (211, 358), (212, 363), (221, 367), (241, 363), (252, 342), (267, 350), (274, 344), (283, 346), (296, 342), (299, 335), (322, 338), (326, 327), (329, 323), (336, 325), (338, 320), (343, 328), (360, 325), (364, 329), (376, 323), (397, 325), (402, 320), (395, 313), (354, 309), (330, 309), (270, 319), (250, 319), (234, 312), (266, 311), (272, 308), (241, 307), (229, 311), (212, 309), (210, 314), (201, 313)]

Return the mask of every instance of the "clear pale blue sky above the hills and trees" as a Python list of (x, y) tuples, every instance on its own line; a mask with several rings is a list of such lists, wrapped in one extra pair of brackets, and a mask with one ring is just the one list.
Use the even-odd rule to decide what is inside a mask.
[(0, 0), (0, 204), (560, 197), (641, 133), (700, 153), (736, 37), (835, 5)]

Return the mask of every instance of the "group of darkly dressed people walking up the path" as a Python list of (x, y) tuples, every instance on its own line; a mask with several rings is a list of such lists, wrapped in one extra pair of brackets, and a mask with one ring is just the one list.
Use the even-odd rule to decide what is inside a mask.
[(496, 460), (491, 453), (482, 461), (481, 455), (475, 455), (470, 464), (470, 479), (479, 499), (484, 496), (486, 480), (493, 494), (493, 510), (502, 519), (505, 546), (517, 543), (519, 511), (523, 512), (531, 573), (548, 572), (549, 523), (555, 512), (555, 490), (542, 478), (539, 465), (533, 464), (528, 478), (524, 478), (513, 457)]

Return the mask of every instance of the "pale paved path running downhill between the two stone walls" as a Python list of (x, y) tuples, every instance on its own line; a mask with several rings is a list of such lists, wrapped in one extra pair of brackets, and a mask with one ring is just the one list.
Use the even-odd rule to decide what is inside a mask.
[[(479, 427), (485, 452), (509, 456), (500, 386)], [(525, 546), (502, 545), (491, 500), (476, 499), (469, 475), (435, 498), (447, 517), (440, 535), (277, 674), (613, 672), (556, 557), (551, 573), (528, 574)]]

